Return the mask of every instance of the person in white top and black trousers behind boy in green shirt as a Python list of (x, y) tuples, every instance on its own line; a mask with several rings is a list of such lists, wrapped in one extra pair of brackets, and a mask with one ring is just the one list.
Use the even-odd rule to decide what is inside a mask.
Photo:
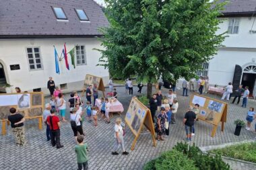
[(82, 118), (80, 114), (77, 114), (76, 112), (77, 108), (73, 108), (72, 114), (70, 114), (70, 124), (75, 136), (75, 141), (77, 141), (77, 132), (79, 132), (80, 135), (84, 135), (82, 124), (80, 122)]

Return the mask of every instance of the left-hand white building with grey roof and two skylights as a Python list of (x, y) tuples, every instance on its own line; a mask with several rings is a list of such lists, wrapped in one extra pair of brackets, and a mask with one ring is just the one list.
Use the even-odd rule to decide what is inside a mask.
[[(38, 2), (22, 0), (19, 3), (0, 2), (0, 14), (3, 13), (0, 15), (0, 87), (8, 83), (13, 92), (15, 87), (20, 87), (22, 91), (49, 93), (47, 81), (53, 77), (63, 91), (79, 90), (86, 74), (102, 77), (107, 82), (108, 70), (96, 66), (101, 54), (95, 49), (102, 49), (98, 38), (103, 35), (98, 29), (108, 26), (108, 22), (94, 1), (53, 0), (33, 5)], [(25, 14), (10, 24), (10, 9)], [(69, 54), (69, 70), (61, 57), (64, 44), (67, 52), (75, 48), (75, 69)], [(54, 46), (62, 58), (60, 74), (55, 71)]]

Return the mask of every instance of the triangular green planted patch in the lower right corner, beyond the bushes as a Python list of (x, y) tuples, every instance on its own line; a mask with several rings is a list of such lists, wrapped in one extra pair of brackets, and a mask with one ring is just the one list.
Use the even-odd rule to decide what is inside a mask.
[(256, 142), (235, 144), (226, 148), (209, 151), (209, 153), (256, 163)]

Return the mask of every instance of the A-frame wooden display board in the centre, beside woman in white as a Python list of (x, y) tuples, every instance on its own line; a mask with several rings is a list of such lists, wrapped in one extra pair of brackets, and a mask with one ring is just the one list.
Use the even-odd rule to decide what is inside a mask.
[(143, 105), (143, 103), (141, 103), (137, 97), (133, 97), (131, 99), (131, 103), (125, 116), (125, 122), (135, 136), (133, 144), (131, 145), (131, 151), (133, 151), (135, 147), (135, 142), (137, 142), (137, 138), (139, 138), (139, 134), (143, 128), (143, 125), (146, 126), (146, 128), (148, 128), (152, 134), (153, 144), (156, 146), (156, 139), (154, 137), (155, 130), (150, 110), (145, 105)]

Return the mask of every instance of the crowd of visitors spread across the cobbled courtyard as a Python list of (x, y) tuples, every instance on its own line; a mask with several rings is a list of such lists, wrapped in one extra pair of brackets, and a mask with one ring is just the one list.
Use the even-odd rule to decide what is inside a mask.
[[(195, 91), (193, 79), (189, 82), (183, 81), (183, 96), (188, 96), (188, 89), (191, 91)], [(203, 88), (205, 87), (205, 79), (201, 77), (201, 80), (198, 81), (199, 85), (199, 93), (203, 93)], [(110, 79), (109, 85), (112, 86), (110, 88), (110, 93), (113, 97), (117, 97), (117, 91), (114, 88), (114, 84), (112, 79)], [(43, 112), (43, 121), (46, 126), (46, 140), (51, 140), (51, 145), (57, 148), (63, 148), (63, 144), (61, 144), (61, 122), (67, 122), (65, 120), (65, 114), (68, 108), (70, 108), (70, 124), (71, 130), (73, 131), (74, 141), (75, 141), (75, 153), (77, 153), (77, 166), (78, 169), (88, 169), (88, 146), (84, 142), (84, 130), (83, 130), (83, 122), (85, 119), (88, 122), (93, 122), (93, 125), (98, 126), (98, 121), (104, 120), (106, 124), (110, 123), (109, 117), (109, 109), (110, 102), (108, 98), (100, 98), (100, 107), (96, 105), (96, 99), (98, 99), (98, 88), (97, 85), (89, 85), (86, 91), (86, 103), (84, 103), (82, 97), (80, 97), (77, 91), (73, 91), (70, 94), (70, 98), (68, 101), (65, 101), (63, 91), (59, 89), (59, 87), (55, 86), (55, 82), (53, 78), (50, 77), (49, 82), (47, 83), (47, 87), (49, 88), (51, 94), (51, 100), (49, 103), (45, 104), (45, 109)], [(138, 91), (137, 93), (141, 93), (141, 89), (143, 87), (143, 83), (139, 83), (137, 85)], [(158, 86), (159, 87), (159, 86)], [(17, 93), (21, 93), (21, 89), (19, 87), (15, 88)], [(125, 81), (125, 91), (129, 93), (129, 95), (133, 95), (133, 82), (131, 79), (127, 79)], [(228, 83), (226, 87), (226, 91), (222, 96), (222, 99), (230, 99), (230, 94), (233, 93), (232, 83)], [(247, 107), (247, 99), (249, 96), (249, 89), (240, 85), (238, 89), (236, 89), (236, 93), (232, 103), (236, 101), (238, 98), (237, 104), (240, 102), (241, 97), (243, 97), (243, 107)], [(92, 101), (92, 97), (94, 101)], [(170, 126), (177, 124), (177, 111), (179, 109), (179, 102), (177, 99), (177, 94), (172, 89), (168, 90), (166, 95), (162, 94), (161, 90), (158, 90), (157, 93), (152, 95), (152, 98), (149, 100), (150, 112), (152, 114), (152, 120), (155, 124), (155, 130), (157, 133), (157, 140), (164, 140), (164, 136), (169, 136), (170, 134)], [(15, 136), (15, 143), (24, 146), (26, 145), (25, 140), (25, 130), (24, 130), (24, 121), (25, 118), (17, 112), (15, 108), (11, 108), (9, 110), (10, 115), (8, 116), (9, 122), (11, 122), (11, 128), (13, 129), (13, 134)], [(86, 114), (86, 116), (84, 115)], [(195, 135), (195, 122), (198, 120), (197, 116), (199, 114), (199, 104), (193, 105), (193, 107), (189, 107), (188, 111), (185, 113), (183, 118), (183, 125), (185, 126), (186, 132), (186, 141), (191, 141), (193, 135)], [(60, 116), (60, 118), (59, 118)], [(246, 120), (247, 120), (247, 130), (251, 128), (251, 122), (256, 118), (256, 114), (254, 112), (254, 108), (250, 108)], [(113, 149), (112, 155), (119, 155), (118, 150), (121, 147), (123, 151), (123, 155), (128, 155), (129, 153), (125, 150), (125, 142), (124, 136), (125, 132), (123, 130), (124, 125), (121, 118), (117, 118), (115, 120), (114, 127), (114, 136), (115, 136), (115, 147)], [(256, 124), (255, 124), (256, 131)]]

